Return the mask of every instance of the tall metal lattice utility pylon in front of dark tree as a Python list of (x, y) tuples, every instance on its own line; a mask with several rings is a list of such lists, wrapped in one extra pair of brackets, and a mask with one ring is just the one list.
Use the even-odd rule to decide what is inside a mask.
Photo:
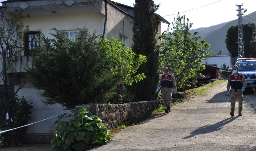
[(236, 11), (238, 11), (238, 14), (236, 14), (238, 16), (238, 58), (245, 58), (243, 22), (242, 22), (242, 15), (244, 14), (242, 13), (242, 10), (244, 10), (244, 8), (241, 8), (241, 6), (243, 5), (244, 4), (235, 5), (238, 7), (238, 9), (236, 9)]

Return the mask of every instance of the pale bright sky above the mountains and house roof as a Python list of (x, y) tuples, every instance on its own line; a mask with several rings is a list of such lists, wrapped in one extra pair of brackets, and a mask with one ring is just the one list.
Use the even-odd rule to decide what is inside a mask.
[[(0, 0), (3, 1), (3, 0)], [(113, 0), (128, 6), (133, 6), (135, 0)], [(170, 23), (173, 17), (180, 12), (189, 18), (189, 22), (193, 23), (192, 29), (200, 27), (210, 27), (216, 24), (237, 19), (237, 11), (235, 5), (244, 4), (242, 8), (247, 9), (245, 15), (256, 11), (256, 0), (154, 0), (155, 4), (160, 4), (156, 13), (164, 17)], [(213, 4), (211, 4), (213, 3)], [(210, 4), (210, 5), (208, 5)], [(1, 6), (2, 4), (0, 4)], [(205, 6), (207, 5), (207, 6)], [(204, 7), (202, 7), (204, 6)], [(200, 8), (198, 8), (200, 7)], [(196, 9), (195, 9), (196, 8)], [(194, 9), (194, 10), (191, 10)], [(188, 11), (191, 10), (191, 11)], [(184, 12), (187, 11), (187, 12)], [(181, 13), (184, 12), (184, 13)], [(170, 16), (166, 16), (170, 15)], [(245, 18), (243, 18), (245, 19)], [(256, 22), (256, 16), (253, 20)], [(170, 25), (171, 26), (171, 25)], [(162, 23), (161, 30), (164, 31), (168, 27), (167, 24)]]

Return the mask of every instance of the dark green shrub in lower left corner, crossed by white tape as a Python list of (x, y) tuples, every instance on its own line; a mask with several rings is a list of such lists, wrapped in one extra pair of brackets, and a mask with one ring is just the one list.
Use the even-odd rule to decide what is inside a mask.
[[(30, 114), (31, 109), (33, 108), (31, 104), (28, 104), (28, 102), (25, 100), (24, 96), (22, 98), (19, 98), (16, 96), (14, 98), (14, 102), (12, 102), (12, 114), (13, 117), (13, 127), (21, 127), (23, 125), (26, 125), (29, 120), (31, 120)], [(8, 123), (6, 120), (0, 122), (0, 131), (8, 130)], [(14, 135), (17, 144), (21, 145), (22, 140), (24, 139), (27, 132), (27, 127), (23, 127), (17, 130), (14, 130)], [(1, 147), (8, 147), (11, 145), (10, 141), (10, 135), (9, 132), (1, 133), (0, 134), (0, 148)]]

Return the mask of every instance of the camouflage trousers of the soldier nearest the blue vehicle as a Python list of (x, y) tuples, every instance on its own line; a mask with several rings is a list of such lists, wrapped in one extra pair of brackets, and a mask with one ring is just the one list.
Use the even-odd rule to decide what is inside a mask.
[(237, 89), (237, 91), (235, 92), (235, 90), (231, 90), (230, 92), (230, 102), (231, 102), (231, 112), (235, 111), (235, 100), (236, 98), (238, 99), (238, 112), (241, 113), (242, 109), (243, 109), (243, 91), (241, 91), (241, 89)]

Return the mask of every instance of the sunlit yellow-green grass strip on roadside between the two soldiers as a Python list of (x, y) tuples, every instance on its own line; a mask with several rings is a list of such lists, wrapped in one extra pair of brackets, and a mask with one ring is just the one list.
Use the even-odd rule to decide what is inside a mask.
[(187, 96), (192, 96), (192, 95), (199, 95), (199, 96), (205, 96), (205, 91), (212, 88), (214, 85), (216, 84), (222, 84), (222, 83), (226, 83), (227, 81), (225, 80), (217, 80), (214, 81), (213, 83), (209, 83), (207, 85), (203, 85), (202, 87), (197, 88), (195, 91), (189, 93)]

